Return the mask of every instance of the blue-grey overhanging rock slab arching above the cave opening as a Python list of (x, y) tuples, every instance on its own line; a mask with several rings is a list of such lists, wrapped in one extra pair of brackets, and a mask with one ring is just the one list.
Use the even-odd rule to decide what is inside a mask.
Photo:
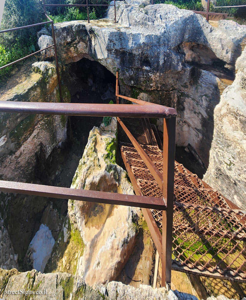
[(174, 74), (184, 69), (183, 53), (179, 51), (183, 42), (204, 45), (217, 58), (235, 63), (237, 47), (246, 36), (244, 27), (226, 21), (227, 26), (219, 23), (222, 28), (213, 28), (190, 10), (146, 2), (116, 1), (117, 24), (113, 23), (113, 7), (109, 7), (106, 19), (90, 24), (55, 24), (61, 59), (66, 63), (82, 57), (98, 60), (112, 73), (118, 68), (127, 85), (146, 90), (171, 88)]

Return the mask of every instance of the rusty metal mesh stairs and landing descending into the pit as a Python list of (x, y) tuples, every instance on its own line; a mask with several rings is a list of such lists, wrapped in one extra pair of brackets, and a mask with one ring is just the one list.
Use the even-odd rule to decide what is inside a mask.
[[(156, 128), (146, 119), (135, 120), (124, 118), (123, 122), (162, 173), (163, 154), (158, 132), (153, 131)], [(136, 149), (123, 132), (119, 136), (142, 194), (162, 197), (162, 190)], [(246, 214), (235, 208), (197, 175), (175, 162), (172, 269), (246, 282)], [(161, 231), (162, 211), (151, 212)]]

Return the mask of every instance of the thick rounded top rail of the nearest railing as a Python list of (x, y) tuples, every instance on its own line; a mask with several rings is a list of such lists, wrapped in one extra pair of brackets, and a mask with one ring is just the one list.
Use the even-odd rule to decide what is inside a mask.
[[(176, 110), (174, 110), (176, 112)], [(2, 113), (26, 113), (66, 116), (168, 118), (165, 106), (133, 104), (91, 104), (0, 101)]]

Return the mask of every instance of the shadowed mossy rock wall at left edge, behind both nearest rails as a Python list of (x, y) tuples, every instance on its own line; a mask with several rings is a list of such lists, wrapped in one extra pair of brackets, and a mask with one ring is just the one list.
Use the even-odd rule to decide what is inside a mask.
[[(1, 89), (1, 101), (60, 101), (54, 64), (40, 61), (33, 70), (22, 69)], [(63, 98), (70, 101), (65, 92)], [(46, 159), (66, 139), (66, 122), (65, 116), (1, 113), (1, 179), (39, 183)], [(45, 197), (0, 193), (1, 217), (19, 259), (40, 227), (37, 220), (47, 202)]]

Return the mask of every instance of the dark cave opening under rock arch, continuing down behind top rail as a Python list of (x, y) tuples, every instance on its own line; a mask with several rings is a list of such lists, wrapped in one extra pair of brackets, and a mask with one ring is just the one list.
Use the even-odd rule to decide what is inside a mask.
[[(71, 103), (115, 103), (116, 76), (97, 61), (82, 58), (71, 63), (65, 66), (62, 78), (62, 83), (71, 94)], [(79, 160), (83, 156), (89, 132), (94, 126), (99, 127), (102, 121), (103, 117), (69, 116), (66, 142), (62, 149), (57, 148), (50, 155), (42, 179), (51, 178), (52, 175), (48, 174), (50, 170), (59, 168), (60, 176), (56, 176), (53, 184), (70, 187)]]

